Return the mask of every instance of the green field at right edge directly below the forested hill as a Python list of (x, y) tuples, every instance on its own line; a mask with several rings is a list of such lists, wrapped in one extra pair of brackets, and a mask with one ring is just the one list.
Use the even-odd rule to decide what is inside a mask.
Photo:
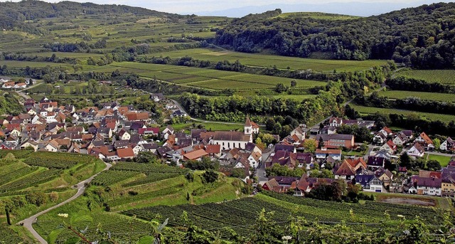
[(429, 83), (455, 85), (455, 70), (405, 70), (397, 75), (426, 80)]

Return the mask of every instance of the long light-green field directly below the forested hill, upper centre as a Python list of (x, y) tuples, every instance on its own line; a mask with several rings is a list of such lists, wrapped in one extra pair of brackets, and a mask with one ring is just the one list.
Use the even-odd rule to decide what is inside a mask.
[[(259, 66), (259, 67), (272, 67), (277, 65), (277, 68), (291, 70), (314, 70), (323, 72), (337, 72), (359, 71), (366, 70), (373, 66), (384, 65), (385, 60), (322, 60), (311, 58), (294, 58), (278, 55), (267, 55), (260, 53), (238, 53), (233, 51), (220, 51), (209, 48), (194, 48), (181, 51), (171, 51), (156, 53), (155, 56), (162, 55), (163, 57), (169, 56), (170, 58), (181, 58), (186, 55), (198, 60), (210, 60), (211, 62), (218, 62), (228, 60), (235, 62), (239, 60), (243, 65)], [(147, 55), (151, 56), (151, 55)]]

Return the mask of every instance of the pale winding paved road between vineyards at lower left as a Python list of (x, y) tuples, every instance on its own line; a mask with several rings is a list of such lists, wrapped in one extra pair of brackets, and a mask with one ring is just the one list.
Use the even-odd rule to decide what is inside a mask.
[[(112, 164), (108, 164), (108, 163), (105, 163), (106, 164), (106, 168), (103, 169), (102, 171), (105, 171), (107, 169), (109, 169)], [(100, 172), (101, 173), (101, 172)], [(98, 173), (98, 174), (100, 174)], [(89, 179), (86, 179), (85, 181), (81, 181), (79, 182), (75, 189), (77, 189), (77, 193), (75, 193), (74, 196), (68, 198), (67, 200), (63, 201), (62, 203), (58, 203), (57, 205), (53, 206), (53, 207), (50, 207), (44, 211), (41, 211), (39, 213), (36, 213), (34, 216), (31, 216), (30, 218), (26, 218), (24, 219), (23, 221), (19, 222), (19, 224), (23, 224), (23, 226), (32, 233), (33, 237), (36, 238), (36, 240), (38, 240), (39, 243), (41, 244), (48, 244), (48, 242), (46, 240), (44, 240), (44, 238), (41, 237), (41, 235), (39, 235), (35, 229), (33, 229), (33, 226), (32, 224), (36, 222), (36, 218), (38, 218), (39, 216), (42, 216), (44, 213), (48, 213), (49, 211), (55, 209), (55, 208), (58, 208), (60, 206), (63, 206), (64, 204), (66, 203), (69, 203), (70, 201), (73, 201), (75, 200), (76, 198), (78, 198), (80, 195), (82, 195), (82, 193), (84, 193), (85, 191), (85, 184), (88, 184), (90, 183), (90, 181), (92, 181), (93, 178), (95, 178), (95, 176), (97, 176), (98, 174), (95, 174), (93, 176), (91, 176)]]

